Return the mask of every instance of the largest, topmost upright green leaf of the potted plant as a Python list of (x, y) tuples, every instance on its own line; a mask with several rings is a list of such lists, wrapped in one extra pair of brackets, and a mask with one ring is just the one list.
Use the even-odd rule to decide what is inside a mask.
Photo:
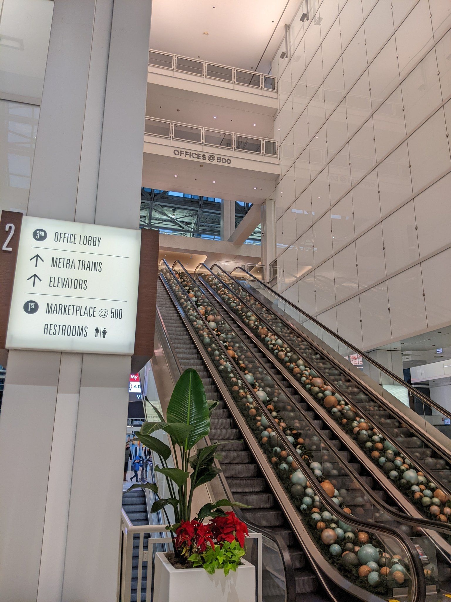
[(210, 432), (209, 408), (204, 386), (193, 368), (185, 370), (174, 386), (168, 405), (167, 421), (192, 426), (192, 432), (185, 441), (186, 449), (191, 449)]

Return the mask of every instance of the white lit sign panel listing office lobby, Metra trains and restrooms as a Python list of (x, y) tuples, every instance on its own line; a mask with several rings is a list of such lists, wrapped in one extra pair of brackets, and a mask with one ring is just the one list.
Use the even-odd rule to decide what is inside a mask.
[(141, 232), (24, 216), (7, 349), (132, 355)]

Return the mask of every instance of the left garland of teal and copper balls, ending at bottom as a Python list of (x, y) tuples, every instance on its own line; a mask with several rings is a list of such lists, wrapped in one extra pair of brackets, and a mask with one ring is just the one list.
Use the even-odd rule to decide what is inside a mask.
[[(237, 355), (236, 352), (239, 350), (239, 344), (236, 340), (234, 341), (236, 337), (233, 331), (226, 334), (228, 325), (225, 324), (221, 316), (213, 313), (214, 308), (207, 305), (207, 300), (206, 304), (202, 305), (201, 297), (203, 295), (197, 287), (193, 287), (191, 282), (183, 282), (183, 277), (185, 276), (183, 273), (176, 276), (182, 282), (189, 299), (197, 305), (201, 315), (206, 317), (210, 330), (207, 330), (203, 321), (198, 319), (197, 312), (192, 309), (191, 303), (186, 300), (179, 285), (172, 283), (177, 298), (183, 309), (185, 309), (192, 325), (197, 330), (207, 352), (217, 365), (219, 373), (236, 400), (242, 415), (244, 415), (257, 440), (260, 441), (260, 445), (265, 450), (275, 472), (289, 492), (293, 503), (307, 519), (306, 523), (310, 533), (322, 549), (324, 555), (328, 557), (337, 569), (345, 573), (352, 582), (374, 593), (385, 595), (389, 587), (399, 586), (405, 582), (407, 585), (409, 579), (407, 565), (400, 556), (395, 555), (390, 557), (388, 554), (385, 554), (381, 541), (375, 535), (352, 529), (352, 527), (338, 520), (326, 507), (322, 506), (321, 499), (318, 495), (314, 494), (314, 490), (311, 489), (307, 477), (304, 476), (301, 470), (296, 468), (297, 465), (293, 461), (292, 456), (290, 456), (292, 452), (283, 448), (277, 432), (271, 429), (266, 417), (258, 415), (258, 406), (253, 398), (248, 395), (243, 381), (248, 386), (254, 388), (257, 397), (259, 397), (262, 403), (269, 402), (267, 409), (271, 412), (275, 423), (278, 424), (281, 430), (284, 430), (287, 439), (295, 446), (295, 452), (310, 465), (310, 470), (321, 482), (324, 492), (331, 497), (334, 503), (342, 507), (345, 512), (351, 514), (351, 509), (346, 507), (343, 497), (340, 495), (346, 495), (346, 490), (338, 491), (333, 482), (324, 477), (324, 474), (329, 472), (331, 476), (334, 476), (334, 472), (337, 473), (336, 470), (334, 471), (333, 465), (330, 464), (329, 466), (328, 462), (323, 462), (322, 464), (311, 462), (312, 451), (315, 448), (321, 450), (321, 444), (318, 445), (319, 439), (317, 438), (318, 442), (311, 442), (312, 450), (308, 451), (305, 445), (306, 441), (299, 436), (300, 433), (296, 432), (296, 429), (286, 429), (287, 423), (284, 422), (275, 405), (272, 405), (272, 403), (277, 404), (277, 393), (280, 393), (280, 391), (277, 391), (277, 385), (276, 387), (270, 386), (270, 381), (274, 383), (274, 380), (263, 370), (260, 373), (257, 370), (255, 374), (247, 370), (248, 367), (253, 368), (253, 366), (249, 362), (245, 364), (244, 356)], [(221, 332), (219, 329), (222, 329), (224, 332)], [(212, 343), (213, 334), (216, 340), (218, 340), (219, 346)], [(227, 355), (224, 355), (224, 350)], [(243, 373), (242, 380), (236, 378), (232, 365), (227, 358), (229, 360), (232, 359), (233, 363)], [(265, 377), (267, 379), (266, 382)], [(278, 407), (286, 409), (287, 405), (283, 403), (283, 400), (280, 400)], [(325, 459), (327, 459), (327, 456), (325, 456)]]

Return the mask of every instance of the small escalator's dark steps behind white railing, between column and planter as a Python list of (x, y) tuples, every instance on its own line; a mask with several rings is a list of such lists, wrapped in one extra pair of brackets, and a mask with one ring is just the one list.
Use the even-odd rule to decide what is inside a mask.
[[(147, 516), (146, 495), (143, 489), (133, 489), (133, 491), (124, 491), (122, 494), (122, 507), (127, 513), (133, 526), (148, 525), (149, 517)], [(144, 550), (147, 550), (147, 539), (149, 535), (144, 533)], [(132, 590), (130, 602), (137, 602), (138, 594), (138, 555), (140, 551), (140, 536), (135, 533), (133, 535), (133, 559), (132, 559)], [(143, 566), (143, 578), (141, 580), (141, 602), (146, 600), (146, 580), (147, 568)]]

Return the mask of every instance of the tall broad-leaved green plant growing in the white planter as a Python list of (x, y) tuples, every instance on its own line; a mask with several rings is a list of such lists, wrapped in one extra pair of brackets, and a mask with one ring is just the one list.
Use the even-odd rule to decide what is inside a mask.
[[(209, 549), (213, 550), (213, 548), (218, 548), (219, 550), (222, 547), (222, 542), (219, 546), (216, 545), (215, 547), (213, 541), (213, 545), (210, 547), (209, 544), (207, 547), (207, 544), (204, 544), (205, 533), (202, 532), (201, 535), (198, 535), (202, 531), (199, 526), (206, 518), (214, 520), (216, 518), (227, 518), (230, 514), (233, 514), (224, 512), (222, 510), (224, 506), (249, 507), (245, 506), (245, 504), (223, 499), (214, 503), (204, 504), (198, 511), (197, 516), (193, 520), (191, 519), (192, 497), (195, 489), (200, 485), (208, 483), (221, 472), (220, 468), (214, 466), (215, 459), (221, 457), (217, 453), (218, 445), (221, 445), (221, 443), (216, 442), (198, 449), (194, 454), (191, 453), (195, 444), (209, 434), (210, 417), (216, 405), (218, 405), (218, 402), (207, 401), (204, 386), (197, 371), (188, 368), (188, 370), (183, 372), (179, 380), (177, 380), (174, 387), (168, 404), (166, 420), (158, 408), (153, 406), (160, 422), (144, 423), (140, 432), (136, 435), (137, 439), (158, 457), (159, 464), (155, 465), (155, 472), (165, 477), (167, 491), (169, 492), (169, 497), (159, 497), (153, 503), (150, 512), (155, 513), (159, 510), (164, 512), (167, 523), (170, 525), (169, 529), (172, 534), (174, 553), (176, 557), (184, 559), (185, 562), (191, 562), (189, 557), (192, 556), (194, 549), (197, 550), (197, 547), (193, 548), (193, 541), (198, 542), (199, 536), (203, 538), (201, 539), (202, 544), (199, 548), (203, 552), (207, 552)], [(168, 460), (172, 455), (169, 445), (152, 434), (158, 430), (164, 430), (171, 439), (175, 467), (168, 465)], [(130, 489), (138, 487), (150, 489), (158, 495), (158, 485), (155, 483), (137, 483), (132, 485)], [(171, 524), (168, 517), (167, 506), (172, 506), (174, 509), (174, 524)], [(191, 527), (189, 527), (190, 524)], [(191, 534), (191, 529), (194, 528), (193, 525), (195, 533)], [(232, 532), (230, 531), (230, 529), (233, 530), (235, 528), (236, 533), (241, 534), (241, 527), (230, 527), (229, 525), (230, 541), (227, 542), (229, 544), (232, 543), (232, 540), (235, 541), (235, 536), (231, 535)], [(186, 529), (190, 531), (189, 536), (186, 535)], [(206, 542), (208, 541), (209, 539), (207, 538)], [(238, 546), (241, 547), (239, 543)], [(229, 570), (227, 570), (227, 573)]]

